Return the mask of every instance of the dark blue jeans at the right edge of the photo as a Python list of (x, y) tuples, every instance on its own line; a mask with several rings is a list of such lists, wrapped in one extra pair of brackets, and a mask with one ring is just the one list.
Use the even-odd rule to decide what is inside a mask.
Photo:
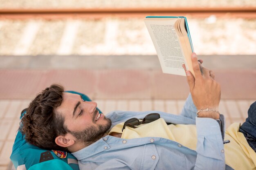
[(248, 110), (248, 117), (239, 128), (239, 132), (245, 135), (249, 146), (256, 152), (256, 101)]

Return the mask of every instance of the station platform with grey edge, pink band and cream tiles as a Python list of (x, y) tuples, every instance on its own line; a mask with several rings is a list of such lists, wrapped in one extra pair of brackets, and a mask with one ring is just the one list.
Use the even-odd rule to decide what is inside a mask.
[[(256, 100), (256, 56), (198, 56), (222, 88), (226, 124), (243, 123)], [(85, 93), (104, 114), (160, 110), (178, 114), (189, 94), (186, 77), (164, 74), (157, 56), (0, 56), (0, 170), (9, 156), (20, 112), (53, 83)]]

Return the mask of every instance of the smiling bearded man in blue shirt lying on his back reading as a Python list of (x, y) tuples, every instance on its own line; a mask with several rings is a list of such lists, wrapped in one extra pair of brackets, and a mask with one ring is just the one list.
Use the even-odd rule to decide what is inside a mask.
[[(226, 133), (230, 143), (224, 147), (220, 85), (212, 71), (200, 67), (195, 53), (191, 59), (195, 77), (185, 69), (191, 95), (181, 115), (158, 112), (160, 119), (149, 119), (157, 115), (152, 114), (155, 111), (114, 111), (105, 117), (97, 103), (84, 102), (81, 96), (52, 85), (29, 105), (22, 132), (38, 147), (72, 152), (81, 170), (255, 169), (256, 153), (244, 136), (236, 137), (241, 135), (234, 130), (237, 126)], [(150, 123), (136, 128), (131, 123), (134, 117)]]

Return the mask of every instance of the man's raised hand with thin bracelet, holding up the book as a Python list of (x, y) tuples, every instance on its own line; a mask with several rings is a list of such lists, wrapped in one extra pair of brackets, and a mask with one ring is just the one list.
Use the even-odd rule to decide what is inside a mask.
[[(202, 60), (198, 61), (195, 53), (192, 53), (191, 59), (195, 77), (190, 71), (186, 71), (185, 66), (183, 67), (186, 71), (186, 78), (195, 107), (198, 110), (204, 110), (206, 108), (218, 110), (220, 103), (220, 84), (214, 80), (214, 73), (201, 65)], [(202, 111), (198, 113), (198, 116), (211, 117), (213, 119), (219, 118), (219, 114), (215, 111)]]

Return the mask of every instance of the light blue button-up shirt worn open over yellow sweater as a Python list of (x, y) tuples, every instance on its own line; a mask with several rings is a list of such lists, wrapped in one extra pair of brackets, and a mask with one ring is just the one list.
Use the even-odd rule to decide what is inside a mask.
[(112, 127), (132, 117), (141, 119), (149, 113), (159, 113), (166, 122), (173, 124), (196, 124), (196, 150), (159, 137), (121, 139), (106, 136), (72, 154), (79, 160), (80, 170), (225, 170), (220, 126), (214, 119), (196, 117), (196, 111), (189, 95), (181, 115), (159, 111), (113, 111), (106, 116), (112, 120)]

